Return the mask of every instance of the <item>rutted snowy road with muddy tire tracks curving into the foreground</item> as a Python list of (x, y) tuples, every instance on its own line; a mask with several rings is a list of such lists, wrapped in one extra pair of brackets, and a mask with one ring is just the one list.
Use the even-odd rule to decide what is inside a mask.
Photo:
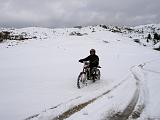
[[(27, 118), (26, 120), (30, 120), (30, 118), (33, 118), (35, 120), (36, 119), (38, 119), (38, 120), (44, 119), (45, 120), (46, 116), (47, 116), (47, 120), (63, 120), (66, 118), (67, 118), (67, 120), (73, 120), (73, 119), (74, 120), (80, 120), (80, 119), (90, 120), (91, 116), (88, 115), (88, 112), (81, 113), (81, 111), (85, 111), (83, 109), (88, 109), (87, 108), (88, 106), (89, 107), (92, 106), (93, 108), (94, 107), (96, 108), (96, 106), (98, 106), (97, 104), (101, 104), (101, 102), (104, 102), (104, 101), (107, 104), (107, 102), (110, 101), (112, 99), (112, 97), (114, 96), (114, 91), (118, 91), (118, 89), (120, 89), (121, 92), (124, 92), (123, 91), (124, 89), (122, 89), (122, 88), (125, 87), (126, 83), (127, 83), (126, 84), (127, 86), (132, 84), (131, 85), (132, 87), (134, 84), (135, 87), (132, 88), (133, 91), (131, 92), (132, 94), (130, 94), (130, 97), (128, 97), (127, 101), (125, 103), (123, 103), (125, 105), (123, 105), (123, 107), (121, 108), (121, 110), (119, 109), (119, 111), (116, 111), (116, 109), (115, 109), (113, 113), (104, 112), (103, 114), (105, 114), (105, 115), (103, 115), (103, 116), (105, 116), (105, 117), (101, 118), (101, 116), (99, 116), (99, 118), (101, 118), (103, 120), (104, 119), (106, 119), (106, 120), (137, 119), (140, 117), (140, 114), (143, 112), (143, 109), (145, 106), (144, 99), (141, 100), (141, 98), (139, 98), (140, 94), (141, 94), (141, 97), (144, 97), (143, 93), (140, 93), (140, 91), (143, 89), (142, 87), (144, 87), (144, 86), (140, 85), (143, 82), (141, 80), (142, 76), (140, 76), (140, 70), (141, 70), (141, 67), (138, 67), (138, 66), (132, 67), (131, 74), (126, 79), (122, 80), (120, 83), (113, 86), (111, 89), (107, 90), (106, 92), (101, 93), (101, 95), (96, 96), (88, 101), (82, 102), (83, 100), (81, 99), (81, 97), (78, 97), (78, 98), (75, 98), (71, 101), (68, 101), (67, 104), (65, 103), (65, 104), (58, 105), (54, 108), (49, 109), (48, 111), (43, 112), (42, 114), (39, 114), (36, 116), (31, 116), (31, 117)], [(137, 71), (138, 71), (138, 74), (137, 74)], [(130, 91), (130, 88), (128, 88), (126, 90)], [(108, 94), (111, 94), (110, 96), (112, 96), (112, 97), (108, 97)], [(119, 97), (121, 95), (123, 96), (123, 93), (119, 92), (119, 95), (114, 96), (114, 97)], [(109, 98), (109, 99), (107, 101), (107, 100), (104, 100), (104, 98)], [(99, 99), (101, 99), (101, 100), (99, 101)], [(78, 104), (77, 100), (82, 103)], [(139, 101), (141, 101), (141, 103), (138, 103)], [(97, 104), (94, 104), (96, 102), (97, 102)], [(128, 104), (126, 104), (127, 102), (128, 102)], [(116, 104), (118, 104), (118, 102)], [(70, 106), (70, 105), (72, 105), (72, 106)], [(136, 106), (138, 108), (136, 108)], [(63, 109), (61, 109), (61, 108), (63, 108)], [(64, 108), (67, 108), (66, 111), (64, 111)], [(113, 108), (108, 109), (107, 106), (104, 109), (105, 109), (105, 111), (113, 111)], [(57, 112), (57, 114), (53, 115), (53, 114), (55, 114), (55, 112)], [(98, 114), (98, 112), (96, 114)], [(76, 114), (76, 115), (74, 115), (74, 114)], [(102, 113), (100, 113), (100, 114), (102, 115)], [(99, 118), (95, 118), (95, 120), (99, 119)]]

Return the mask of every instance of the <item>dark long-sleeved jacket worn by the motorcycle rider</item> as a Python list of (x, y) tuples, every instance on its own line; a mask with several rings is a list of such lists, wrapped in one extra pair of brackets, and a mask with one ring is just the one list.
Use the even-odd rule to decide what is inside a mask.
[(97, 55), (89, 55), (84, 59), (80, 59), (79, 62), (89, 61), (90, 67), (97, 67), (99, 65), (99, 57)]

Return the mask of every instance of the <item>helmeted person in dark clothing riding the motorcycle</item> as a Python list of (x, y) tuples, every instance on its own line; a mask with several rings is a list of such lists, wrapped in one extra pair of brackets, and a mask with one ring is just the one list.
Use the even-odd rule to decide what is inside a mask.
[(90, 50), (90, 55), (84, 59), (80, 59), (79, 62), (83, 61), (89, 61), (89, 68), (90, 68), (90, 73), (93, 69), (93, 67), (98, 67), (99, 65), (99, 57), (96, 55), (95, 49)]

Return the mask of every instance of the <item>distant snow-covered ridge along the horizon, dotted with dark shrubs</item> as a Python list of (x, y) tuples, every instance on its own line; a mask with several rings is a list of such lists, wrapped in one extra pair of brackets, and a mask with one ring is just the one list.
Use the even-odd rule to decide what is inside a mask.
[[(107, 26), (107, 25), (95, 25), (82, 27), (77, 26), (75, 28), (64, 28), (64, 29), (48, 29), (48, 28), (38, 28), (38, 27), (29, 27), (23, 29), (6, 29), (1, 28), (1, 32), (9, 32), (10, 39), (7, 41), (8, 46), (17, 45), (20, 41), (24, 42), (23, 39), (48, 39), (53, 36), (83, 36), (88, 35), (88, 33), (99, 32), (99, 31), (110, 31), (113, 33), (121, 34), (122, 36), (131, 38), (132, 41), (138, 43), (139, 45), (146, 46), (152, 49), (158, 48), (160, 49), (160, 41), (154, 42), (154, 33), (157, 33), (160, 36), (160, 24), (148, 24), (141, 25), (136, 27), (126, 27), (126, 26)], [(148, 40), (148, 34), (151, 35), (151, 39)], [(21, 37), (23, 38), (21, 40)], [(19, 42), (14, 41), (14, 39), (18, 39)]]

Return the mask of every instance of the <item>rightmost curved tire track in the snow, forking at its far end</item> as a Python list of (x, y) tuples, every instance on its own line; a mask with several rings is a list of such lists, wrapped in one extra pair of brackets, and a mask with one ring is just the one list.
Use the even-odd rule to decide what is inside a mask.
[[(132, 71), (132, 69), (135, 68), (135, 67), (138, 67), (139, 69), (142, 69), (144, 71), (153, 72), (155, 74), (160, 74), (159, 71), (144, 69), (145, 65), (147, 65), (151, 62), (157, 61), (157, 60), (159, 60), (159, 59), (150, 60), (150, 61), (144, 62), (143, 64), (140, 64), (138, 66), (135, 65), (135, 66), (130, 68), (130, 71), (132, 72), (132, 74), (133, 74), (133, 76), (136, 80), (137, 88), (135, 90), (135, 93), (134, 93), (130, 103), (123, 110), (123, 112), (118, 112), (118, 113), (112, 115), (111, 117), (109, 117), (109, 120), (127, 120), (128, 118), (137, 119), (138, 117), (140, 117), (140, 114), (143, 112), (143, 110), (145, 108), (145, 103), (144, 102), (141, 103), (141, 104), (138, 104), (138, 100), (140, 99), (139, 98), (140, 97), (140, 92), (141, 92), (141, 89), (142, 89), (141, 88), (142, 86), (140, 86), (140, 82), (144, 82), (144, 80), (141, 80), (141, 79), (143, 79), (143, 78), (141, 78), (142, 76), (137, 75), (134, 71)], [(137, 106), (137, 108), (136, 108), (136, 106)]]

